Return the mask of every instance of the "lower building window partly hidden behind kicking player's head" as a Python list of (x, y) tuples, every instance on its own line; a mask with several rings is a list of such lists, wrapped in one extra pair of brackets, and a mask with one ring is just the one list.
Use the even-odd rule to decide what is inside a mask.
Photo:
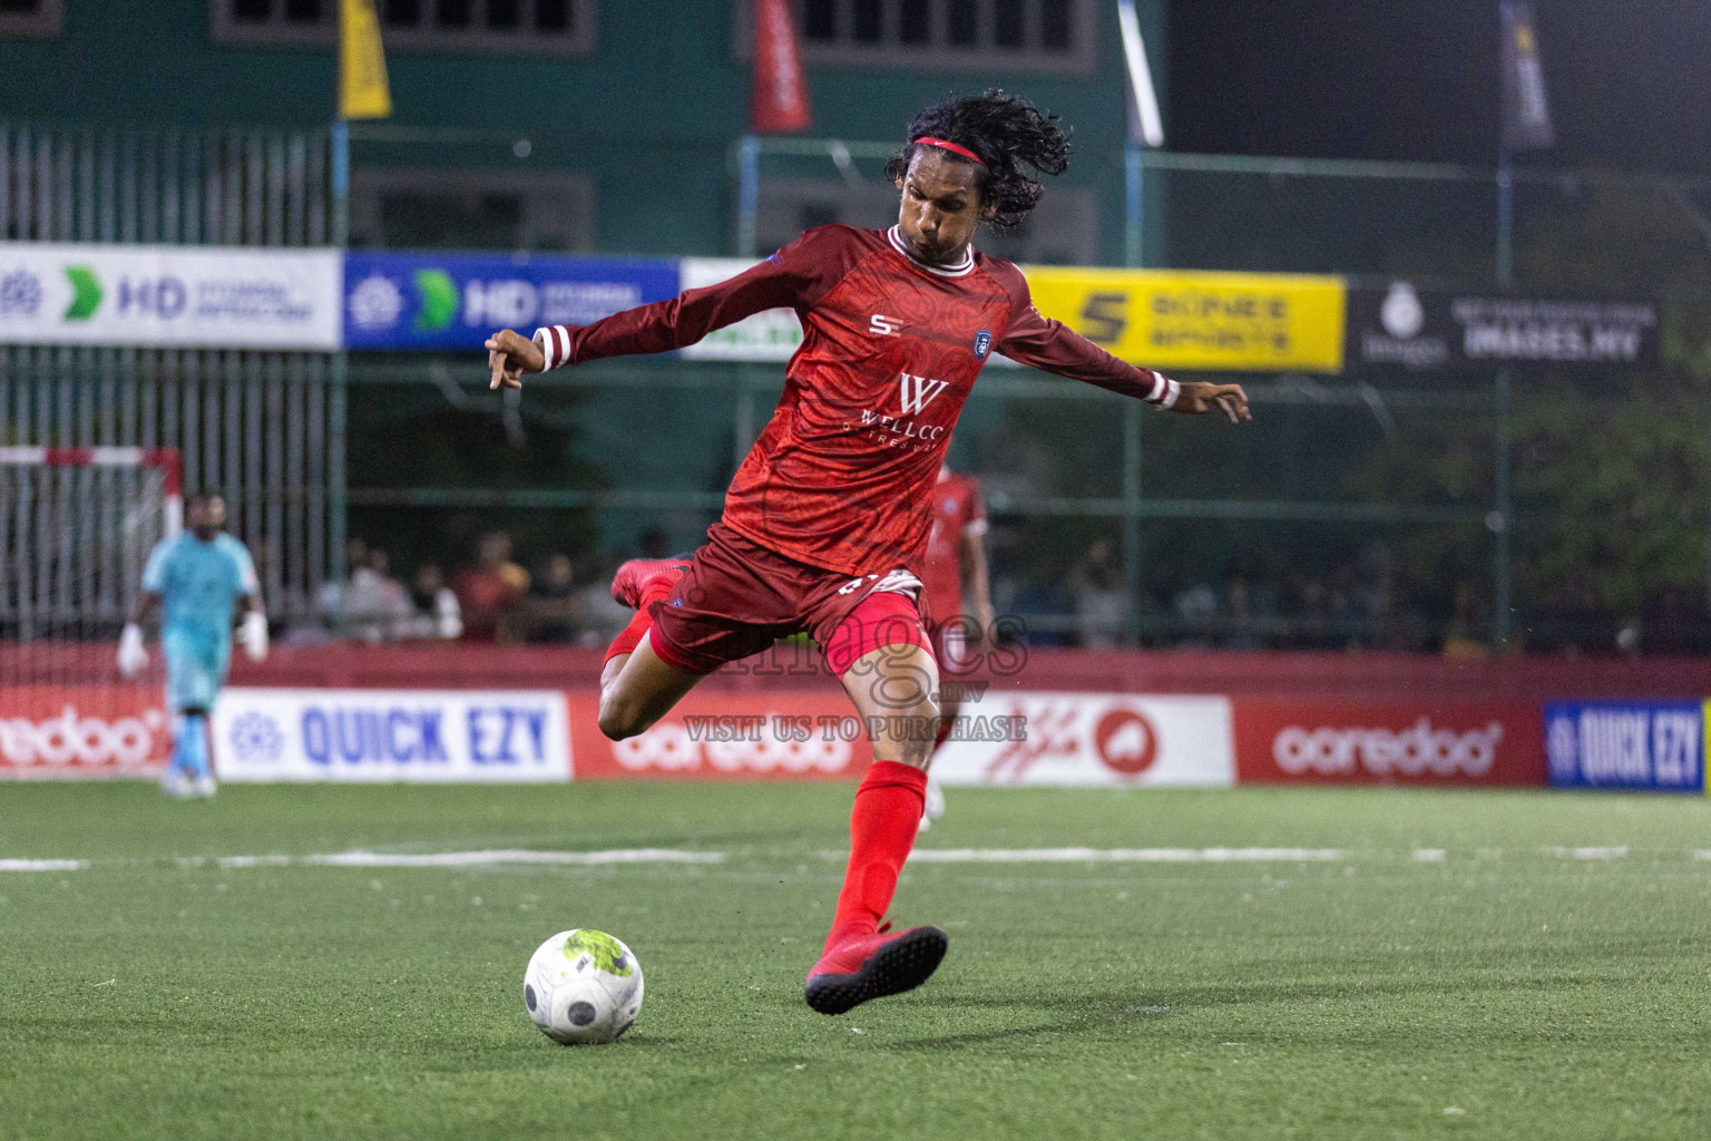
[[(897, 188), (814, 180), (761, 180), (755, 239), (761, 253), (796, 241), (814, 226), (847, 222), (886, 229), (897, 222)], [(986, 226), (974, 238), (982, 253), (1032, 265), (1098, 265), (1098, 202), (1092, 190), (1052, 186), (1018, 229)]]

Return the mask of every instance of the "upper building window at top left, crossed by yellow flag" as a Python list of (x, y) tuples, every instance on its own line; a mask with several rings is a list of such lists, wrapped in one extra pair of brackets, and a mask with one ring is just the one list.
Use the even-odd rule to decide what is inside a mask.
[[(0, 0), (0, 12), (24, 2)], [(595, 0), (375, 0), (388, 48), (459, 53), (585, 55), (595, 44), (594, 10)], [(330, 46), (339, 39), (339, 0), (214, 0), (214, 38)]]

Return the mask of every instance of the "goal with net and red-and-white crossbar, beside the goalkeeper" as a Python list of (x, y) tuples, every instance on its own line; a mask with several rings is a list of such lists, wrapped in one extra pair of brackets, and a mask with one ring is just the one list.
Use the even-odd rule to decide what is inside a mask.
[(183, 525), (178, 452), (0, 446), (0, 778), (152, 775), (159, 652), (120, 677), (154, 544)]

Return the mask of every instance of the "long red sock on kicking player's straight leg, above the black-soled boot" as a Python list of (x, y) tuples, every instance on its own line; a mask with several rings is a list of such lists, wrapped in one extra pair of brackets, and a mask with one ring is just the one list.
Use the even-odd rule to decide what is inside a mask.
[(921, 811), (927, 802), (927, 773), (914, 765), (874, 761), (856, 789), (850, 811), (850, 864), (844, 871), (838, 910), (832, 917), (826, 953), (840, 943), (869, 936), (891, 907), (897, 876), (915, 847)]

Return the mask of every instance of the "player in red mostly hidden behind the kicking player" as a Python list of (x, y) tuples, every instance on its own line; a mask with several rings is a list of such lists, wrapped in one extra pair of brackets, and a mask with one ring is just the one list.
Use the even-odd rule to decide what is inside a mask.
[[(980, 647), (991, 645), (996, 618), (992, 583), (986, 571), (986, 501), (974, 476), (939, 469), (932, 486), (932, 527), (927, 529), (927, 553), (921, 570), (921, 621), (932, 636), (932, 657), (939, 676), (958, 677), (972, 669)], [(963, 609), (963, 570), (974, 611)], [(939, 686), (939, 734), (934, 749), (944, 744), (962, 710), (955, 686)], [(929, 758), (931, 760), (931, 758)], [(926, 806), (921, 828), (944, 814), (944, 792), (927, 768)]]

